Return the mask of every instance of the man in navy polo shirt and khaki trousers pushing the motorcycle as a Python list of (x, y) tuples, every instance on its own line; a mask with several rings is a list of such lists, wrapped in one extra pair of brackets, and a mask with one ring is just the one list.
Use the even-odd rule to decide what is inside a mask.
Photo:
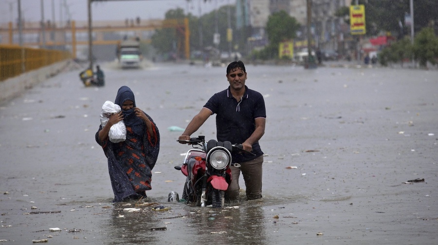
[[(226, 200), (235, 200), (239, 196), (239, 175), (243, 175), (248, 200), (262, 197), (263, 152), (258, 140), (265, 133), (266, 108), (263, 96), (245, 85), (248, 78), (242, 61), (231, 62), (226, 70), (230, 86), (214, 94), (201, 111), (187, 125), (178, 140), (190, 140), (190, 135), (216, 114), (218, 141), (230, 141), (242, 144), (245, 151), (255, 154), (232, 153), (232, 182), (225, 192)], [(233, 163), (240, 164), (240, 168)]]

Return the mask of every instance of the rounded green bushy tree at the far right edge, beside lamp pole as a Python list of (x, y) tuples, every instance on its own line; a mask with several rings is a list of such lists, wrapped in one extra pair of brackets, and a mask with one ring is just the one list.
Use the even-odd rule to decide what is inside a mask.
[(437, 64), (438, 38), (433, 29), (424, 28), (415, 36), (414, 53), (422, 67), (426, 67), (427, 62), (432, 65)]

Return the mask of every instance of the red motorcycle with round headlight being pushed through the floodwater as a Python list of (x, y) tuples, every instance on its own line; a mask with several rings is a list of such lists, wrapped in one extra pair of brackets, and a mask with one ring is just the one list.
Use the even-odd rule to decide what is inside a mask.
[[(175, 166), (186, 176), (182, 198), (195, 207), (212, 205), (213, 208), (222, 208), (224, 193), (232, 180), (231, 152), (253, 153), (243, 150), (241, 144), (233, 145), (230, 141), (205, 142), (205, 136), (177, 141), (193, 147), (187, 151), (182, 165)], [(240, 167), (238, 163), (234, 166)]]

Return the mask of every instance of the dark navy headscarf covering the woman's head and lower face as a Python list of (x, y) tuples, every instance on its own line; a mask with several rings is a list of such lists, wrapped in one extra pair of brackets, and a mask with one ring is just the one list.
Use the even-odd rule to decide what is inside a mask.
[[(122, 86), (117, 91), (117, 96), (114, 101), (114, 104), (117, 104), (120, 106), (120, 108), (122, 108), (123, 103), (125, 103), (125, 101), (127, 100), (132, 101), (134, 103), (134, 107), (137, 107), (135, 105), (135, 97), (132, 90), (127, 86)], [(131, 108), (129, 110), (122, 109), (122, 114), (123, 114), (123, 121), (125, 125), (127, 127), (132, 127), (132, 130), (134, 132), (140, 133), (141, 131), (137, 131), (137, 129), (141, 130), (141, 127), (139, 126), (142, 125), (144, 122), (141, 118), (135, 115), (134, 108)]]

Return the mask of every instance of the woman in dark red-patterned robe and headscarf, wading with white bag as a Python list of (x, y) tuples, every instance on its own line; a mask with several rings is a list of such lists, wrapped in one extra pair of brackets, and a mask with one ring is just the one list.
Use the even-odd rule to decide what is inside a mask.
[[(150, 183), (160, 150), (160, 133), (152, 118), (136, 107), (134, 93), (127, 86), (119, 88), (114, 104), (122, 111), (112, 114), (95, 135), (108, 158), (114, 202), (146, 198), (146, 191), (152, 189)], [(113, 143), (109, 140), (110, 128), (122, 120), (127, 129), (126, 140)]]

